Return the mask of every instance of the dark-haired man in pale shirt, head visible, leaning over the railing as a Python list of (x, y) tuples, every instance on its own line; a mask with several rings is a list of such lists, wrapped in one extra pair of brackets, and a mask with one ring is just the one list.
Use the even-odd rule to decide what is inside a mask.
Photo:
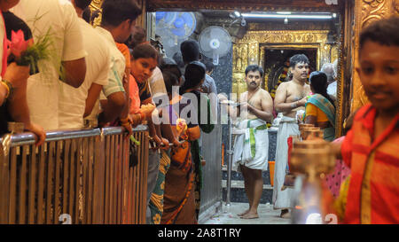
[(101, 27), (96, 27), (100, 35), (106, 39), (106, 45), (111, 53), (111, 71), (108, 76), (108, 85), (103, 88), (101, 106), (103, 112), (99, 114), (100, 126), (121, 117), (128, 117), (128, 98), (123, 89), (126, 61), (115, 42), (125, 43), (141, 9), (134, 0), (105, 0), (103, 5)]

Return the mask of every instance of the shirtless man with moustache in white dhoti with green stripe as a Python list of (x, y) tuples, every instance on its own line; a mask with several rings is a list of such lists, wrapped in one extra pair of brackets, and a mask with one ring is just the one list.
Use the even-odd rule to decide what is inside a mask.
[(273, 100), (267, 90), (262, 90), (262, 67), (246, 67), (247, 91), (241, 94), (238, 108), (230, 108), (235, 123), (233, 168), (242, 172), (249, 208), (239, 214), (243, 219), (258, 218), (257, 208), (262, 197), (262, 171), (267, 170), (269, 137), (266, 121), (273, 118)]

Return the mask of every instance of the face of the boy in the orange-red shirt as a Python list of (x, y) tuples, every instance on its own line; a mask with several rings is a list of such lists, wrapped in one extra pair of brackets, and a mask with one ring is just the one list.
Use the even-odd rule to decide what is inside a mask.
[(356, 68), (367, 97), (377, 109), (399, 108), (399, 46), (366, 41)]

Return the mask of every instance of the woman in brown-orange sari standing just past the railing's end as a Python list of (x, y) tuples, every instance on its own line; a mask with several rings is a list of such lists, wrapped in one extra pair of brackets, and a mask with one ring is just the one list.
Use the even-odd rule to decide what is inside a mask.
[[(172, 86), (177, 86), (179, 78), (172, 71), (162, 70), (165, 87), (168, 91), (169, 121), (172, 131), (183, 144), (173, 147), (170, 152), (170, 166), (165, 175), (163, 193), (163, 213), (161, 224), (195, 224), (195, 173), (192, 162), (191, 141), (200, 137), (198, 124), (186, 123), (181, 119), (181, 112), (191, 105), (191, 101), (178, 93), (172, 94)], [(197, 115), (197, 113), (192, 113)]]

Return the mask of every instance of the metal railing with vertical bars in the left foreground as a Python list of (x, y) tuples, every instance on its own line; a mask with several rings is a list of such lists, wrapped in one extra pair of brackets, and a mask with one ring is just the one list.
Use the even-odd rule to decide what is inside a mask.
[(148, 129), (133, 136), (134, 155), (121, 128), (3, 137), (0, 223), (145, 223)]

